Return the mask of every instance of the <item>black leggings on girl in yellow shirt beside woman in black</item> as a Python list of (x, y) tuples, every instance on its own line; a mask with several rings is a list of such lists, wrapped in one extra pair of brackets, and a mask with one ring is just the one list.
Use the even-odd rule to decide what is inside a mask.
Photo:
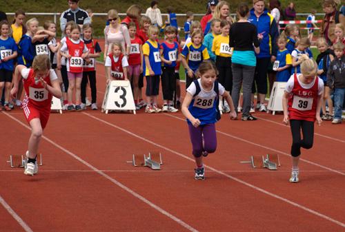
[(231, 58), (217, 56), (216, 66), (219, 72), (218, 81), (224, 86), (225, 90), (230, 92), (233, 89), (233, 71), (231, 70)]

